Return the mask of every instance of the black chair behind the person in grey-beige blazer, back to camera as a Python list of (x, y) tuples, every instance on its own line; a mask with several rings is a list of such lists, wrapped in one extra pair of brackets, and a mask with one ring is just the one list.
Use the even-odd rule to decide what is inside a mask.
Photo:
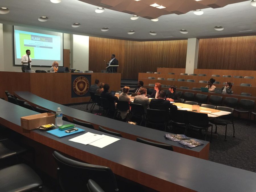
[[(141, 119), (139, 125), (143, 122), (143, 120), (146, 119), (146, 114), (143, 105), (141, 104), (136, 104), (136, 103), (130, 103), (131, 110), (128, 114), (128, 121), (129, 119), (135, 117), (136, 119)], [(146, 126), (146, 125), (145, 125)]]

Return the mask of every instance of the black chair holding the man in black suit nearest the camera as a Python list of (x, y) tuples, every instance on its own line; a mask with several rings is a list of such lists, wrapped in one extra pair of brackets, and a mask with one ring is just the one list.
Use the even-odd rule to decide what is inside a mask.
[(164, 125), (164, 131), (166, 131), (166, 125), (168, 123), (168, 112), (165, 110), (147, 109), (146, 114), (146, 126), (152, 125)]

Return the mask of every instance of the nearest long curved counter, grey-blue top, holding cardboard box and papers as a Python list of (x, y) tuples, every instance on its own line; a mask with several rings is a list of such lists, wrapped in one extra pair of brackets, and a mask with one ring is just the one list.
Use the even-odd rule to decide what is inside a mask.
[[(20, 127), (20, 117), (37, 112), (0, 100), (0, 124), (25, 137), (58, 150), (81, 161), (110, 167), (125, 177), (158, 191), (255, 191), (256, 173), (225, 166), (207, 160), (179, 154), (162, 148), (121, 138), (104, 148), (68, 141), (82, 133), (58, 138), (45, 131), (28, 131)], [(85, 127), (96, 134), (102, 132)], [(105, 133), (104, 133), (105, 135)], [(108, 134), (106, 134), (108, 135)], [(112, 135), (111, 135), (112, 136)], [(116, 136), (112, 136), (116, 137)], [(48, 151), (40, 152), (43, 159)], [(50, 171), (53, 157), (39, 164), (42, 171)], [(37, 162), (36, 162), (37, 164)], [(51, 168), (53, 169), (53, 168)], [(55, 167), (56, 170), (56, 167)]]

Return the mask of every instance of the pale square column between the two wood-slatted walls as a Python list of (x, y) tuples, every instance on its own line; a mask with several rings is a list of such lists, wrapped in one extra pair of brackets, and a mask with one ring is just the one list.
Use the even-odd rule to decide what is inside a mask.
[(187, 40), (187, 58), (186, 58), (186, 70), (185, 73), (194, 73), (194, 69), (197, 69), (199, 51), (199, 39), (190, 38)]

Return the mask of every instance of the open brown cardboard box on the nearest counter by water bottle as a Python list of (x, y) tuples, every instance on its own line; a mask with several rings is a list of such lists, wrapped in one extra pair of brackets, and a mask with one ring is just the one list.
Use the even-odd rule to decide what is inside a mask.
[(40, 113), (36, 115), (29, 115), (20, 117), (21, 127), (23, 129), (32, 130), (41, 125), (55, 124), (55, 115), (52, 113)]

